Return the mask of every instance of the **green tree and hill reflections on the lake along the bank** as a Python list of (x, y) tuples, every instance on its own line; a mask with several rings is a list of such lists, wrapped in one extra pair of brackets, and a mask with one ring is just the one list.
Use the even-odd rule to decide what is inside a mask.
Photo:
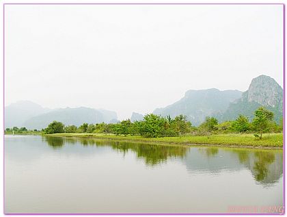
[[(241, 164), (248, 168), (254, 179), (260, 183), (275, 183), (283, 173), (283, 157), (281, 150), (256, 150), (256, 149), (240, 149), (240, 148), (217, 148), (211, 147), (190, 147), (190, 146), (176, 146), (163, 144), (146, 144), (135, 142), (115, 142), (107, 140), (95, 140), (92, 138), (61, 138), (61, 137), (43, 137), (44, 140), (53, 149), (59, 149), (61, 146), (67, 144), (80, 143), (83, 146), (109, 146), (115, 151), (120, 151), (126, 155), (129, 151), (134, 152), (138, 159), (144, 159), (147, 166), (156, 166), (167, 162), (169, 158), (180, 157), (183, 161), (187, 161), (184, 157), (191, 159), (191, 164), (197, 168), (197, 164), (205, 165), (205, 170), (217, 170), (226, 168), (227, 165), (233, 165), (234, 169)], [(195, 150), (191, 151), (190, 150)], [(204, 156), (201, 159), (194, 159), (195, 153), (202, 153)], [(189, 155), (187, 155), (189, 153)], [(232, 157), (235, 153), (238, 157)], [(222, 160), (219, 160), (219, 157)], [(204, 159), (205, 158), (205, 159)], [(212, 164), (203, 164), (208, 158), (212, 160)], [(217, 159), (218, 158), (218, 159)], [(194, 160), (193, 160), (194, 159)], [(233, 160), (230, 164), (230, 160)], [(276, 160), (275, 160), (276, 159)], [(236, 166), (238, 164), (238, 166)], [(232, 168), (233, 168), (232, 167)], [(232, 170), (232, 168), (230, 168)]]

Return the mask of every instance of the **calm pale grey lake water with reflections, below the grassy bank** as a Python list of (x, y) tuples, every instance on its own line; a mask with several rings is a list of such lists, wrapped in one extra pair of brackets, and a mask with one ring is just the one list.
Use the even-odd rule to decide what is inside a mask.
[(5, 136), (5, 213), (228, 213), (230, 206), (260, 212), (282, 205), (282, 150)]

